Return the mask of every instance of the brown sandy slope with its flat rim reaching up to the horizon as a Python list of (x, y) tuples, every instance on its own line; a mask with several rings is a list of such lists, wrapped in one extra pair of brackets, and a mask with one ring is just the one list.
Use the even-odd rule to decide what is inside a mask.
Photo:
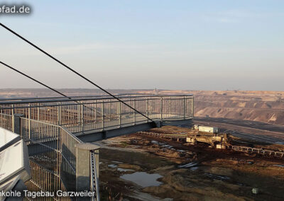
[(195, 97), (197, 117), (222, 117), (284, 125), (283, 91), (156, 91), (156, 93), (192, 93)]

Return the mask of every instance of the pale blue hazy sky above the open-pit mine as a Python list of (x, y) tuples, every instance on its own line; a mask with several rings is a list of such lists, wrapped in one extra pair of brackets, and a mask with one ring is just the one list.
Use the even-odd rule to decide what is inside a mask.
[[(104, 88), (284, 90), (284, 1), (0, 1), (0, 22)], [(55, 88), (93, 88), (0, 28), (0, 60)], [(0, 88), (42, 88), (0, 64)]]

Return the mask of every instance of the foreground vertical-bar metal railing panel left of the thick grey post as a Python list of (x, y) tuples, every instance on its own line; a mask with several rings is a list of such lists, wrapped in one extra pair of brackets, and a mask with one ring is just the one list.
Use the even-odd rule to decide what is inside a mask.
[[(30, 160), (46, 169), (54, 178), (54, 188), (75, 190), (76, 157), (75, 144), (81, 143), (73, 134), (58, 125), (21, 117), (21, 136), (29, 145)], [(31, 166), (32, 171), (37, 171)], [(38, 185), (40, 182), (36, 181)], [(40, 185), (43, 189), (44, 185)]]

